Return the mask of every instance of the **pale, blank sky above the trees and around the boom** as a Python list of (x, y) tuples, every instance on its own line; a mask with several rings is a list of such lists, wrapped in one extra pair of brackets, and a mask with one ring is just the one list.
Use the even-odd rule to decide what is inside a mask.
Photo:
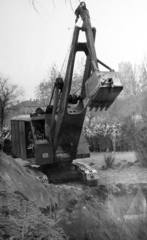
[[(75, 10), (79, 0), (71, 0)], [(97, 29), (97, 57), (117, 70), (118, 63), (147, 55), (147, 0), (86, 0)], [(0, 0), (0, 72), (23, 86), (26, 98), (51, 64), (61, 68), (69, 49), (75, 15), (68, 0)]]

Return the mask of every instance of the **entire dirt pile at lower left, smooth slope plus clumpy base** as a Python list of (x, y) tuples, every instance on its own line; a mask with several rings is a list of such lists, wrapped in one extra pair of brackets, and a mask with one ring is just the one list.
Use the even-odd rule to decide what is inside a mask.
[(0, 239), (67, 239), (43, 210), (55, 199), (13, 158), (0, 152)]

